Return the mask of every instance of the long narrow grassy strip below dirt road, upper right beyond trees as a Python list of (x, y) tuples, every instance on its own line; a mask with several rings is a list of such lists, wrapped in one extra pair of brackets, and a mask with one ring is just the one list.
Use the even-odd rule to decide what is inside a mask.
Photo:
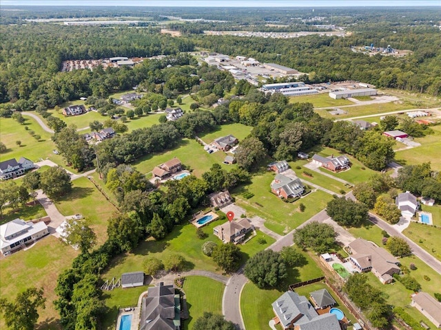
[(328, 111), (331, 109), (316, 109), (315, 111), (324, 118), (342, 119), (342, 118), (358, 117), (360, 115), (375, 115), (375, 114), (380, 115), (380, 113), (384, 113), (384, 112), (407, 110), (413, 108), (414, 106), (409, 103), (389, 102), (389, 103), (358, 105), (356, 107), (345, 107), (342, 108), (342, 110), (347, 111), (347, 113), (344, 115), (331, 115), (331, 113), (329, 113)]

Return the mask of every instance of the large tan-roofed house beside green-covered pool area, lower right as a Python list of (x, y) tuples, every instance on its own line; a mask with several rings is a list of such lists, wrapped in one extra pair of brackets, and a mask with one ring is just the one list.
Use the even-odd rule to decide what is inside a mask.
[(400, 262), (383, 248), (366, 241), (365, 239), (356, 239), (348, 245), (349, 261), (360, 272), (373, 272), (381, 283), (391, 283), (393, 274), (400, 272), (398, 265)]

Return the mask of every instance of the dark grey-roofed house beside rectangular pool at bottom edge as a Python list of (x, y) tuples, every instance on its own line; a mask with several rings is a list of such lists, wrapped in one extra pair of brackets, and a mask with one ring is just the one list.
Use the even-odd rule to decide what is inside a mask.
[(180, 330), (181, 298), (173, 285), (149, 287), (141, 305), (140, 330)]

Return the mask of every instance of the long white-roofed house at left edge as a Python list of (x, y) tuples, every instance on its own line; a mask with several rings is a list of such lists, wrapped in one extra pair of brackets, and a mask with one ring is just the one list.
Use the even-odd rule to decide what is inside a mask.
[(0, 250), (4, 255), (25, 248), (38, 239), (49, 234), (48, 226), (43, 222), (32, 223), (14, 219), (0, 225)]

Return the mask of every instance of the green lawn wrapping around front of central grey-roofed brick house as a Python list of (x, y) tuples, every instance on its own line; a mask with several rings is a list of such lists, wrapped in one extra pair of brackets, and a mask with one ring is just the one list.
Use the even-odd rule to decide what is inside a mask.
[[(285, 203), (271, 193), (269, 185), (273, 179), (274, 173), (272, 172), (255, 175), (251, 184), (236, 188), (233, 193), (236, 197), (236, 203), (247, 210), (249, 217), (253, 215), (262, 217), (266, 220), (265, 227), (274, 230), (278, 234), (286, 234), (298, 227), (298, 225), (324, 209), (327, 202), (332, 199), (331, 195), (318, 190), (309, 193), (309, 195), (298, 199), (294, 203)], [(245, 199), (240, 195), (245, 191), (252, 192), (254, 197)], [(305, 212), (300, 212), (300, 203), (305, 204)]]

